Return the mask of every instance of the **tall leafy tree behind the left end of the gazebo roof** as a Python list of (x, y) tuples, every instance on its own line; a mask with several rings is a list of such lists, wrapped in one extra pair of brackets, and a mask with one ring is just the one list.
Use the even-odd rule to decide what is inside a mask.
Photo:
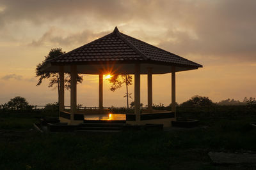
[[(45, 56), (45, 59), (42, 61), (42, 63), (39, 63), (36, 66), (36, 77), (38, 77), (38, 83), (36, 86), (41, 85), (42, 80), (44, 79), (49, 79), (49, 85), (48, 87), (57, 87), (58, 89), (58, 98), (60, 97), (60, 75), (59, 73), (56, 72), (51, 72), (51, 71), (42, 71), (42, 66), (46, 64), (48, 60), (54, 59), (55, 57), (58, 57), (60, 55), (63, 55), (66, 52), (62, 51), (62, 48), (52, 48), (51, 51), (48, 53), (47, 56)], [(83, 76), (77, 74), (77, 83), (82, 83), (83, 81)], [(65, 73), (65, 78), (64, 78), (64, 87), (65, 89), (69, 90), (70, 89), (70, 73)], [(56, 86), (55, 86), (56, 85)]]

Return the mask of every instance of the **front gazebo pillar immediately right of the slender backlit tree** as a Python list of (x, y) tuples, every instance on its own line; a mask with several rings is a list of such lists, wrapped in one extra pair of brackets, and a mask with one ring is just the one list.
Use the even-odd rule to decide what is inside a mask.
[(135, 64), (134, 73), (134, 113), (136, 122), (140, 122), (140, 64)]

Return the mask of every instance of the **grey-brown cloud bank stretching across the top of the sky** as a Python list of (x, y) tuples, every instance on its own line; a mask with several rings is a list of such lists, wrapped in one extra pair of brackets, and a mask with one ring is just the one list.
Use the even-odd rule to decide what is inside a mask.
[[(100, 32), (101, 23), (104, 23), (102, 26), (112, 27), (127, 24), (134, 32), (141, 32), (141, 36), (146, 40), (154, 37), (143, 34), (147, 27), (161, 27), (165, 32), (156, 37), (159, 46), (180, 55), (200, 54), (235, 58), (243, 56), (244, 59), (256, 59), (254, 0), (3, 0), (0, 6), (4, 6), (4, 10), (0, 11), (0, 25), (24, 20), (36, 25), (51, 25), (56, 20), (69, 27), (76, 27), (83, 22), (98, 25), (97, 30), (92, 30), (92, 27), (84, 28), (81, 32), (65, 37), (49, 29), (31, 45), (45, 45), (47, 42), (63, 46), (81, 44), (105, 34)], [(133, 25), (136, 27), (132, 27)], [(63, 28), (65, 29), (65, 26)], [(125, 26), (122, 28), (125, 31)]]

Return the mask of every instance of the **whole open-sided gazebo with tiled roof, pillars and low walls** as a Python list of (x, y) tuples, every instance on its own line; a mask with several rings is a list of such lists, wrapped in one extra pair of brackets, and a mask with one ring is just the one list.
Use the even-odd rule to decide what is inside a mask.
[[(134, 74), (134, 114), (126, 115), (126, 124), (163, 124), (170, 127), (175, 120), (175, 73), (198, 69), (202, 65), (179, 55), (149, 45), (119, 32), (110, 34), (86, 45), (48, 60), (42, 71), (60, 73), (60, 122), (81, 124), (83, 114), (77, 112), (77, 74), (99, 74), (99, 113), (103, 113), (103, 74)], [(70, 113), (64, 107), (64, 73), (71, 75)], [(152, 74), (172, 73), (172, 111), (152, 109)], [(140, 109), (140, 75), (147, 74), (148, 109)]]

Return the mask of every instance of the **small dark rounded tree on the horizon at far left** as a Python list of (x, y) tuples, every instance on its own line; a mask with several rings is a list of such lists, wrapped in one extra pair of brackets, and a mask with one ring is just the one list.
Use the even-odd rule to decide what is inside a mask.
[(7, 106), (11, 110), (25, 110), (29, 105), (24, 97), (16, 96), (8, 101)]

